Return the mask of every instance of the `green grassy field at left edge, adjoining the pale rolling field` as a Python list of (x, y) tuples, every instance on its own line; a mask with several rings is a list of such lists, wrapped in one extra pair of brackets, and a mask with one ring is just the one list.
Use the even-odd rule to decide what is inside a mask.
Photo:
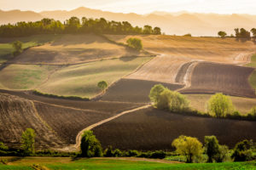
[(32, 89), (47, 79), (55, 66), (9, 65), (0, 74), (0, 88)]

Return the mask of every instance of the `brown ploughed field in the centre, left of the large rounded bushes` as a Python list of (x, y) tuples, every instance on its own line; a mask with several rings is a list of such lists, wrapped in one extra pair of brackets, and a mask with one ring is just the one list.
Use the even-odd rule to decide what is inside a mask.
[(106, 101), (122, 101), (122, 102), (134, 102), (134, 103), (148, 103), (150, 102), (148, 94), (150, 89), (155, 84), (162, 84), (166, 88), (177, 90), (183, 88), (183, 85), (169, 84), (163, 82), (153, 82), (146, 80), (135, 79), (121, 79), (119, 82), (115, 82), (106, 94), (104, 94), (101, 100)]

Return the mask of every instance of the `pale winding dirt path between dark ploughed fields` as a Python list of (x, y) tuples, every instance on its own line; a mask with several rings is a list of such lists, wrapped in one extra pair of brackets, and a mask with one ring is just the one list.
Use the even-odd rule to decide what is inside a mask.
[(137, 108), (132, 109), (132, 110), (129, 110), (129, 111), (123, 111), (123, 112), (119, 113), (118, 115), (109, 117), (108, 119), (102, 120), (101, 122), (96, 122), (95, 124), (92, 124), (92, 125), (90, 125), (89, 127), (85, 127), (83, 130), (81, 130), (81, 131), (78, 133), (77, 138), (76, 138), (76, 144), (74, 144), (74, 145), (72, 145), (72, 146), (68, 146), (68, 147), (66, 147), (66, 148), (58, 149), (58, 150), (61, 150), (61, 151), (79, 150), (79, 146), (80, 146), (80, 143), (81, 143), (82, 134), (84, 133), (84, 131), (91, 130), (91, 129), (94, 128), (94, 127), (98, 127), (98, 126), (102, 125), (103, 123), (106, 123), (106, 122), (112, 121), (113, 119), (118, 118), (119, 116), (123, 116), (123, 115), (125, 115), (125, 114), (127, 114), (127, 113), (131, 113), (131, 112), (134, 112), (134, 111), (143, 110), (143, 109), (146, 109), (146, 108), (148, 108), (148, 107), (150, 107), (150, 106), (151, 106), (151, 105), (143, 105), (143, 106), (141, 106), (141, 107), (137, 107)]

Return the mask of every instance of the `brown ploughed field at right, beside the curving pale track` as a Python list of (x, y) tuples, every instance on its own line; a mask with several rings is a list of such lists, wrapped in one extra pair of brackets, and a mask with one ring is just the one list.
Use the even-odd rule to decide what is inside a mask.
[(224, 93), (255, 98), (255, 91), (248, 82), (253, 68), (238, 65), (199, 63), (191, 77), (191, 86), (183, 89), (185, 94)]

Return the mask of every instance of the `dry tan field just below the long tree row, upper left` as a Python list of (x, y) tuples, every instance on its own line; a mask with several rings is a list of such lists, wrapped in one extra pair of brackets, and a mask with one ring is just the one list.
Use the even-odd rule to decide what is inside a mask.
[(108, 42), (94, 34), (62, 35), (54, 42), (26, 50), (11, 62), (69, 65), (133, 55), (139, 55), (139, 53)]

